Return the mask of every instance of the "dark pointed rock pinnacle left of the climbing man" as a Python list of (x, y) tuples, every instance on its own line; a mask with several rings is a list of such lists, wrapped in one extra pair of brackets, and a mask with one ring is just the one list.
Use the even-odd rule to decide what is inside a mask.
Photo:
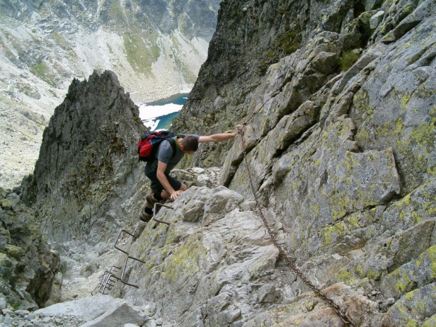
[[(113, 72), (72, 82), (56, 108), (25, 200), (51, 241), (105, 241), (139, 211), (142, 186), (136, 143), (145, 127)], [(136, 216), (136, 215), (135, 215)], [(136, 217), (135, 217), (136, 218)]]

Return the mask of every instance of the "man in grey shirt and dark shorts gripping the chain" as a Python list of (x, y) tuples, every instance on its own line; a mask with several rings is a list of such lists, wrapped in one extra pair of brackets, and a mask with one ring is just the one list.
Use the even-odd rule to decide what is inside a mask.
[(176, 200), (179, 194), (188, 188), (184, 183), (169, 176), (169, 172), (176, 167), (185, 154), (192, 155), (198, 149), (198, 143), (222, 142), (232, 139), (238, 132), (213, 134), (210, 136), (180, 135), (175, 136), (176, 153), (168, 140), (160, 143), (155, 160), (147, 162), (144, 169), (146, 177), (151, 181), (151, 193), (146, 196), (146, 207), (141, 210), (139, 219), (149, 222), (153, 217), (155, 203), (163, 203), (168, 198)]

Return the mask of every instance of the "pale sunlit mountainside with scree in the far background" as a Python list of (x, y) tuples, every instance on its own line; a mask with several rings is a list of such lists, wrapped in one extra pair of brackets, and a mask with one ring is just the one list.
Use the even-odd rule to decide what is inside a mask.
[(32, 173), (73, 78), (112, 70), (139, 105), (191, 90), (219, 0), (1, 1), (0, 186)]

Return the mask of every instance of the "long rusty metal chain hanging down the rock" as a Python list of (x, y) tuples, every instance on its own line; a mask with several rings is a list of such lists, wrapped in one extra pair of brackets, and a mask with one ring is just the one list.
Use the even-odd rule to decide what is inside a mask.
[(333, 299), (331, 299), (330, 297), (327, 297), (326, 295), (324, 295), (322, 293), (322, 291), (318, 288), (318, 286), (315, 286), (312, 283), (312, 281), (309, 281), (307, 276), (302, 271), (300, 271), (300, 269), (297, 268), (297, 266), (295, 265), (294, 262), (292, 262), (292, 260), (290, 259), (290, 257), (286, 253), (286, 250), (283, 249), (283, 247), (278, 243), (276, 237), (274, 236), (274, 232), (272, 231), (271, 227), (269, 226), (269, 224), (267, 222), (267, 219), (265, 218), (264, 213), (262, 212), (262, 208), (259, 205), (259, 198), (257, 198), (257, 194), (256, 194), (256, 191), (255, 191), (255, 186), (253, 184), (251, 173), (250, 173), (250, 167), (248, 166), (248, 160), (246, 160), (247, 159), (247, 148), (245, 147), (244, 132), (243, 132), (243, 128), (242, 127), (238, 128), (238, 133), (241, 134), (241, 141), (242, 141), (242, 146), (243, 146), (243, 158), (245, 159), (244, 160), (244, 162), (245, 162), (245, 169), (247, 170), (248, 180), (250, 181), (251, 191), (252, 191), (252, 193), (253, 193), (253, 195), (255, 197), (256, 209), (259, 212), (259, 215), (260, 215), (260, 217), (262, 219), (262, 222), (264, 222), (264, 225), (267, 228), (269, 236), (271, 236), (271, 239), (272, 239), (274, 245), (278, 249), (278, 252), (280, 252), (282, 257), (286, 260), (286, 262), (288, 262), (288, 264), (290, 266), (290, 269), (292, 271), (294, 271), (295, 274), (297, 274), (297, 276), (299, 276), (300, 279), (307, 286), (309, 286), (309, 288), (311, 288), (316, 293), (316, 295), (321, 297), (322, 300), (324, 300), (325, 302), (330, 304), (333, 307), (333, 309), (335, 309), (336, 314), (338, 314), (338, 316), (340, 317), (342, 322), (345, 323), (345, 326), (356, 327), (356, 325), (354, 325), (353, 321), (350, 319), (350, 316), (348, 316), (348, 314), (346, 312), (344, 312), (342, 310), (342, 308), (337, 303), (335, 303), (335, 301)]

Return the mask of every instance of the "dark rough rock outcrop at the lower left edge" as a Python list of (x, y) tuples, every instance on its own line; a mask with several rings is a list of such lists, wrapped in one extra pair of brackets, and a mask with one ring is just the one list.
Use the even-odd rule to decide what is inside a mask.
[(0, 309), (43, 307), (60, 270), (59, 255), (17, 193), (0, 189), (0, 220)]

